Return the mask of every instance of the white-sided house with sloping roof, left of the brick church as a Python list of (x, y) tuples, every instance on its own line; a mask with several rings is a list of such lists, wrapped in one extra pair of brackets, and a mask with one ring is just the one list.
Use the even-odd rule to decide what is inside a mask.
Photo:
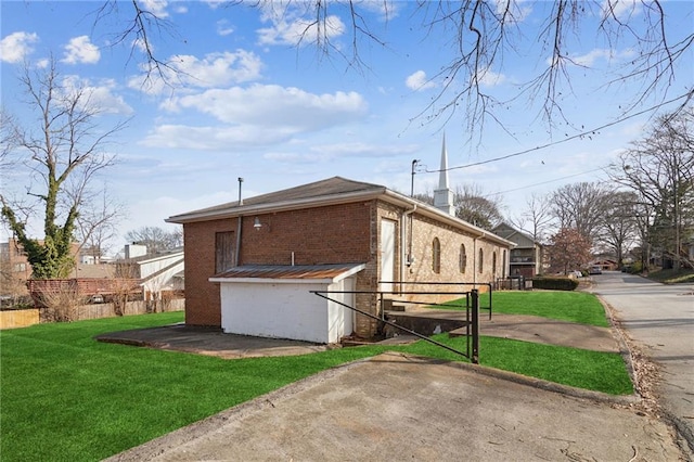
[(130, 257), (116, 262), (120, 278), (138, 279), (145, 300), (158, 300), (163, 292), (183, 291), (183, 248), (147, 255), (143, 245), (126, 245)]

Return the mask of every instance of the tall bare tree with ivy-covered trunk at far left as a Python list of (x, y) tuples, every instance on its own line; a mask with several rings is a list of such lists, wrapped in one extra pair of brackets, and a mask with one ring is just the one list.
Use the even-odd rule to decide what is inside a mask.
[[(3, 191), (2, 217), (27, 253), (34, 278), (65, 277), (74, 266), (73, 234), (85, 192), (98, 172), (113, 165), (105, 143), (124, 123), (100, 130), (95, 118), (101, 108), (85, 88), (64, 85), (54, 60), (36, 72), (25, 65), (20, 80), (38, 124), (13, 127), (17, 141), (9, 156), (27, 169), (26, 189), (35, 207), (11, 201)], [(42, 217), (42, 240), (29, 236), (26, 230), (31, 216)]]

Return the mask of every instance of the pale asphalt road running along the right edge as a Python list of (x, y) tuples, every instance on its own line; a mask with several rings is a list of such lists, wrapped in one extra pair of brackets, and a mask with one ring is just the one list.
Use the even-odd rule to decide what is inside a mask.
[(612, 271), (592, 279), (591, 292), (659, 365), (660, 406), (694, 451), (694, 284), (665, 285)]

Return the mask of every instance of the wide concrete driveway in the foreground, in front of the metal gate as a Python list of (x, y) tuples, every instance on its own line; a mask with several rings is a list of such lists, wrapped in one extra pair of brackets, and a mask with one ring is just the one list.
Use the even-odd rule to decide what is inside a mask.
[(261, 396), (110, 461), (678, 461), (630, 399), (386, 354)]

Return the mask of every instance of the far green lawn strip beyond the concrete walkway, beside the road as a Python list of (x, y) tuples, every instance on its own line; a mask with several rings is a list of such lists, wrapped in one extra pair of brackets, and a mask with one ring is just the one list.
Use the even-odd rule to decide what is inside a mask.
[[(480, 294), (480, 306), (489, 306), (488, 295)], [(449, 301), (465, 305), (465, 299)], [(435, 308), (446, 308), (436, 306)], [(486, 311), (483, 311), (483, 316)], [(608, 328), (605, 309), (592, 294), (568, 291), (496, 291), (492, 293), (492, 313), (526, 315), (560, 321)], [(493, 316), (493, 315), (492, 315)]]

